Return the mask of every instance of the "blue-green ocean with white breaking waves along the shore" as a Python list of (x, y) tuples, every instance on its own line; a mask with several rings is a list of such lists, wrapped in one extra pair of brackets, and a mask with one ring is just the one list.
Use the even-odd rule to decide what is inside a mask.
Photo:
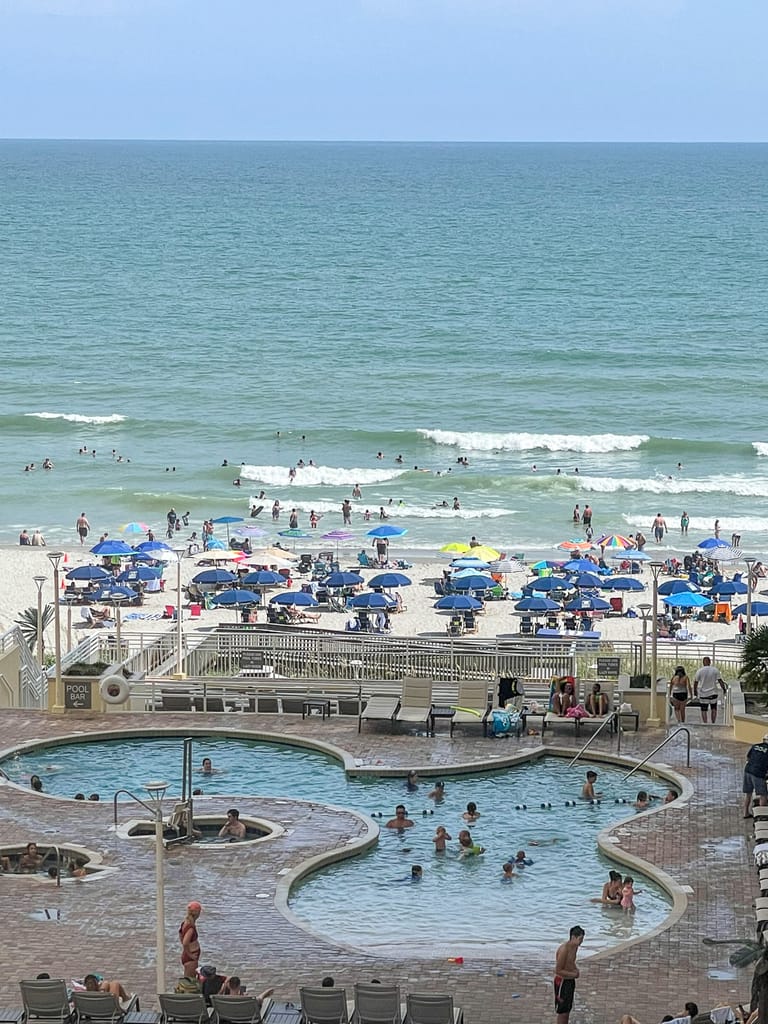
[(383, 506), (403, 552), (553, 555), (577, 502), (768, 554), (767, 177), (768, 145), (0, 142), (0, 542), (262, 490), (268, 540), (275, 499), (321, 535), (358, 484), (350, 554)]

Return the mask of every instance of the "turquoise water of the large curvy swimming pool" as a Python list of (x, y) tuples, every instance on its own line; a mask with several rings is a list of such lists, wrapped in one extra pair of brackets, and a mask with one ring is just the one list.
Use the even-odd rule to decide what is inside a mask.
[[(634, 800), (645, 784), (623, 782), (618, 769), (598, 768), (604, 794), (599, 806), (577, 799), (585, 766), (570, 769), (556, 758), (498, 772), (446, 774), (445, 799), (435, 804), (427, 797), (432, 779), (407, 793), (404, 778), (347, 778), (338, 763), (300, 748), (210, 738), (195, 744), (195, 763), (204, 757), (218, 770), (196, 775), (195, 785), (207, 796), (226, 795), (222, 811), (237, 802), (238, 794), (291, 797), (381, 813), (383, 825), (398, 803), (406, 804), (413, 828), (399, 833), (383, 827), (373, 850), (309, 877), (293, 892), (293, 911), (337, 941), (382, 949), (408, 946), (412, 951), (453, 943), (450, 954), (460, 955), (482, 943), (529, 946), (535, 919), (537, 943), (561, 941), (568, 922), (568, 927), (583, 925), (588, 948), (598, 949), (655, 927), (669, 912), (667, 898), (647, 879), (636, 879), (642, 894), (634, 918), (589, 902), (600, 894), (611, 866), (597, 853), (596, 834), (632, 813), (615, 801)], [(125, 786), (139, 792), (151, 775), (166, 778), (169, 793), (178, 793), (180, 765), (178, 738), (72, 743), (2, 762), (15, 781), (39, 774), (47, 793), (73, 797), (98, 792), (102, 800)], [(470, 800), (480, 811), (472, 836), (486, 852), (462, 860), (458, 834), (467, 827), (462, 814)], [(573, 800), (577, 806), (565, 806)], [(542, 808), (542, 803), (552, 806)], [(443, 855), (435, 854), (432, 843), (438, 824), (453, 837)], [(502, 864), (519, 849), (534, 865), (513, 882), (502, 883)], [(416, 863), (424, 868), (418, 886), (409, 881)]]

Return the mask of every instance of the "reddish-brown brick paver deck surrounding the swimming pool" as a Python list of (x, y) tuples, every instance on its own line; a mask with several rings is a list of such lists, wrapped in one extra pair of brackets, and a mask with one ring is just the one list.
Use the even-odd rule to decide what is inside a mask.
[[(447, 771), (457, 763), (487, 763), (489, 755), (516, 754), (541, 745), (541, 737), (483, 739), (478, 729), (453, 739), (447, 729), (435, 737), (368, 726), (361, 735), (356, 720), (298, 716), (242, 715), (110, 715), (68, 714), (54, 718), (37, 712), (4, 711), (0, 716), (0, 749), (32, 739), (88, 734), (105, 729), (258, 730), (275, 736), (311, 737), (342, 748), (367, 764)], [(545, 745), (572, 748), (569, 728), (557, 729)], [(644, 757), (663, 733), (625, 733), (623, 754)], [(598, 738), (596, 752), (611, 750)], [(705, 1010), (720, 1002), (749, 999), (751, 970), (728, 967), (729, 947), (707, 947), (701, 938), (748, 937), (754, 934), (752, 902), (756, 878), (752, 867), (750, 822), (740, 809), (744, 748), (724, 728), (693, 723), (692, 766), (685, 768), (684, 743), (672, 743), (659, 760), (685, 775), (693, 798), (681, 806), (638, 816), (621, 827), (621, 848), (651, 861), (682, 886), (689, 886), (686, 911), (671, 928), (624, 950), (585, 959), (571, 1014), (572, 1024), (612, 1024), (631, 1012), (643, 1024), (660, 1020), (694, 999)], [(581, 779), (582, 771), (579, 772)], [(147, 777), (152, 774), (147, 766)], [(221, 798), (215, 809), (223, 810)], [(209, 811), (213, 798), (199, 805)], [(343, 847), (366, 835), (364, 819), (322, 805), (293, 801), (238, 798), (244, 814), (283, 825), (280, 839), (256, 847), (226, 851), (194, 851), (184, 847), (166, 854), (168, 987), (180, 974), (176, 929), (190, 899), (204, 906), (200, 922), (202, 963), (237, 973), (249, 991), (274, 986), (275, 998), (297, 1001), (300, 984), (318, 984), (331, 974), (338, 986), (373, 977), (396, 982), (404, 991), (447, 991), (465, 1008), (467, 1024), (510, 1024), (554, 1020), (552, 964), (524, 945), (506, 957), (467, 956), (462, 966), (447, 963), (451, 950), (436, 937), (433, 959), (369, 955), (332, 944), (297, 927), (274, 905), (286, 869), (333, 847)], [(121, 820), (137, 817), (121, 810)], [(4, 971), (0, 1005), (19, 1006), (17, 981), (47, 971), (52, 977), (76, 978), (88, 971), (119, 978), (139, 992), (151, 1009), (155, 988), (155, 860), (151, 840), (119, 840), (112, 803), (60, 801), (15, 786), (0, 785), (0, 844), (36, 839), (41, 846), (77, 843), (98, 851), (104, 864), (118, 867), (100, 879), (66, 882), (60, 888), (38, 879), (0, 877)], [(280, 873), (279, 873), (280, 872)], [(562, 884), (572, 888), (578, 865), (563, 864)], [(585, 890), (585, 898), (595, 893)], [(552, 898), (557, 898), (553, 880)], [(642, 904), (641, 904), (642, 905)], [(48, 920), (45, 909), (60, 920)], [(376, 913), (376, 907), (370, 912)], [(641, 911), (640, 911), (641, 912)], [(563, 922), (567, 928), (578, 922)], [(530, 922), (535, 936), (536, 923)], [(503, 971), (503, 974), (501, 974)], [(499, 972), (499, 973), (498, 973)], [(714, 977), (713, 977), (714, 975)]]

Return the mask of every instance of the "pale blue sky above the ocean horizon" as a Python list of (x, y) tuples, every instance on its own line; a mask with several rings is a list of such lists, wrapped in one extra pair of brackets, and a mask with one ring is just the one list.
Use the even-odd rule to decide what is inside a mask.
[(768, 0), (0, 0), (0, 137), (764, 141)]

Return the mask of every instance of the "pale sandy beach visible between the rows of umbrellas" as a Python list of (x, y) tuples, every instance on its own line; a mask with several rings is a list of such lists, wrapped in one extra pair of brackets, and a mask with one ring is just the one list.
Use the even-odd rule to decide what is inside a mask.
[[(47, 558), (47, 548), (32, 547), (5, 547), (0, 548), (0, 630), (5, 632), (13, 627), (19, 612), (25, 608), (37, 607), (37, 586), (33, 578), (35, 575), (47, 577), (47, 582), (43, 586), (43, 602), (51, 603), (53, 600), (53, 572)], [(91, 555), (87, 548), (71, 547), (62, 548), (67, 554), (67, 563), (61, 566), (60, 574), (78, 565), (96, 563), (98, 559)], [(184, 557), (181, 563), (182, 585), (186, 584), (198, 571), (198, 564), (202, 555)], [(340, 553), (340, 564), (342, 568), (351, 568), (356, 562), (355, 552), (351, 549), (345, 553)], [(404, 610), (401, 613), (391, 615), (391, 632), (398, 636), (419, 636), (429, 634), (431, 636), (446, 636), (446, 627), (450, 615), (445, 612), (438, 612), (433, 605), (436, 598), (433, 582), (442, 577), (442, 570), (449, 565), (450, 556), (436, 554), (433, 559), (415, 561), (413, 567), (407, 570), (407, 574), (413, 581), (412, 586), (402, 588)], [(370, 580), (376, 574), (377, 569), (360, 569), (365, 580)], [(729, 575), (732, 572), (728, 573)], [(123, 635), (131, 633), (157, 633), (172, 628), (167, 618), (163, 618), (163, 610), (167, 604), (175, 604), (176, 599), (176, 568), (175, 564), (169, 565), (165, 571), (167, 579), (166, 592), (146, 594), (144, 603), (140, 607), (124, 607), (122, 609), (122, 631)], [(511, 591), (516, 592), (521, 589), (530, 573), (515, 572), (506, 579)], [(293, 581), (294, 589), (298, 590), (301, 583), (307, 581), (309, 577), (296, 575)], [(646, 569), (640, 577), (645, 584), (644, 591), (625, 593), (625, 607), (633, 607), (642, 603), (650, 603), (652, 600), (651, 574)], [(762, 588), (761, 588), (762, 589)], [(276, 591), (267, 592), (267, 600)], [(606, 592), (607, 593), (607, 592)], [(740, 603), (741, 599), (736, 599)], [(183, 602), (183, 597), (182, 597)], [(184, 602), (185, 603), (185, 602)], [(517, 634), (519, 629), (519, 615), (514, 611), (514, 600), (488, 601), (486, 610), (478, 616), (478, 632), (475, 636), (480, 640), (490, 640), (498, 635)], [(662, 609), (662, 598), (659, 598), (659, 609)], [(313, 609), (310, 609), (313, 610)], [(317, 624), (307, 625), (325, 627), (331, 630), (342, 630), (348, 618), (348, 614), (335, 611), (319, 611)], [(239, 616), (239, 613), (238, 613)], [(184, 615), (185, 630), (210, 630), (219, 622), (232, 622), (236, 620), (236, 612), (228, 608), (218, 608), (202, 610), (199, 618), (190, 618), (188, 613)], [(265, 613), (259, 612), (259, 622), (265, 621)], [(73, 622), (73, 644), (85, 634), (82, 628), (80, 607), (74, 606), (72, 610)], [(67, 614), (62, 608), (62, 643), (63, 650), (67, 649)], [(298, 626), (297, 628), (302, 628)], [(640, 617), (607, 617), (596, 618), (595, 627), (601, 634), (603, 640), (639, 640), (642, 637), (642, 620)], [(706, 638), (708, 641), (725, 640), (735, 636), (736, 622), (731, 625), (724, 623), (699, 623), (692, 622), (689, 629)], [(52, 649), (53, 626), (46, 631), (46, 648)]]

